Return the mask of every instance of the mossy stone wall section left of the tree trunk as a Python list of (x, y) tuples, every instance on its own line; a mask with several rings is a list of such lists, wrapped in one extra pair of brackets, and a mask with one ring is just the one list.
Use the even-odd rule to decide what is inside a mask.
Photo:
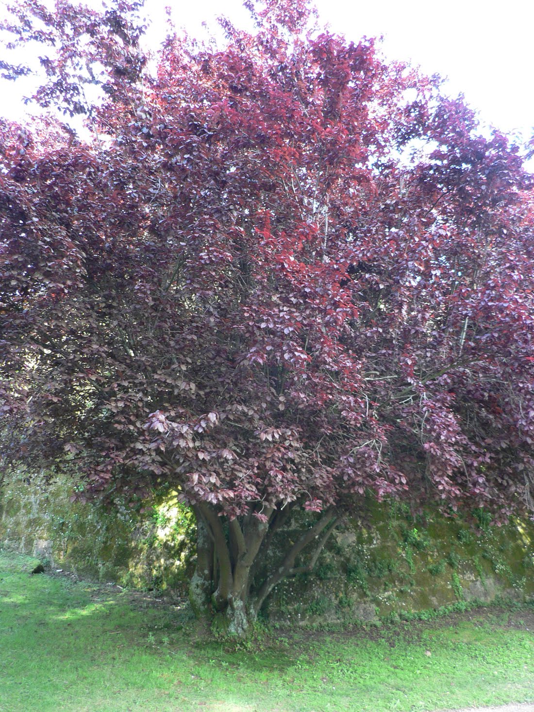
[(58, 568), (143, 589), (183, 592), (192, 574), (194, 519), (177, 503), (145, 513), (116, 498), (71, 503), (73, 483), (46, 474), (6, 478), (0, 496), (0, 542)]

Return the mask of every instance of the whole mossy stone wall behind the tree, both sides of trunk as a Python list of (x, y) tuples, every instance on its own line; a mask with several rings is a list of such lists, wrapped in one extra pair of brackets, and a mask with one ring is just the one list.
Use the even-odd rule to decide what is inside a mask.
[[(119, 498), (110, 508), (73, 504), (72, 487), (44, 475), (9, 477), (0, 493), (0, 545), (101, 581), (184, 594), (194, 567), (187, 508), (172, 497), (145, 513)], [(533, 523), (498, 528), (486, 513), (474, 515), (468, 525), (368, 501), (365, 518), (333, 535), (313, 575), (278, 585), (265, 614), (275, 622), (333, 624), (533, 597)], [(292, 534), (288, 528), (283, 539)]]

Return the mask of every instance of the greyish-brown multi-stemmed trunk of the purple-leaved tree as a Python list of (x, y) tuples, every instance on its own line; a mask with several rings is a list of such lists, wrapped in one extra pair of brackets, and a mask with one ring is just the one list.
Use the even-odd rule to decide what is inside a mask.
[[(216, 509), (205, 503), (195, 506), (194, 511), (197, 568), (189, 587), (190, 600), (197, 615), (214, 619), (219, 628), (240, 637), (246, 635), (263, 602), (281, 580), (313, 570), (336, 523), (332, 509), (323, 512), (300, 532), (290, 548), (269, 557), (273, 567), (263, 572), (273, 538), (288, 522), (289, 507), (264, 509), (266, 521), (248, 515), (227, 520), (226, 526)], [(295, 565), (303, 557), (305, 561)]]

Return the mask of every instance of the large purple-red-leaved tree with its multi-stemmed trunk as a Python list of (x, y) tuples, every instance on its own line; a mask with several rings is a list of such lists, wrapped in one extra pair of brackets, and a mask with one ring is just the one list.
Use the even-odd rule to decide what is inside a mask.
[[(439, 80), (249, 4), (218, 49), (140, 6), (12, 9), (43, 117), (1, 139), (2, 409), (83, 491), (175, 489), (192, 598), (243, 633), (365, 496), (524, 512), (530, 175)], [(3, 64), (4, 75), (26, 73)], [(11, 437), (13, 441), (13, 437)], [(300, 538), (258, 573), (299, 511)]]

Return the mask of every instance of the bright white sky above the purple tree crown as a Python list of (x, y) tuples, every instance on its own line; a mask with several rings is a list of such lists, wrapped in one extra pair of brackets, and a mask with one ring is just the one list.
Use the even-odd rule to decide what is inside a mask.
[[(315, 0), (320, 23), (347, 39), (384, 36), (390, 59), (409, 60), (424, 72), (449, 78), (447, 91), (462, 92), (480, 111), (483, 122), (506, 132), (519, 130), (525, 139), (534, 132), (534, 2), (532, 0)], [(92, 0), (92, 4), (96, 4)], [(201, 22), (215, 27), (224, 13), (237, 26), (246, 23), (241, 0), (147, 0), (147, 15), (156, 41), (162, 34), (164, 7), (173, 9), (177, 26), (191, 36)], [(1, 12), (1, 10), (0, 10)], [(1, 85), (4, 112), (21, 117), (21, 92)]]

